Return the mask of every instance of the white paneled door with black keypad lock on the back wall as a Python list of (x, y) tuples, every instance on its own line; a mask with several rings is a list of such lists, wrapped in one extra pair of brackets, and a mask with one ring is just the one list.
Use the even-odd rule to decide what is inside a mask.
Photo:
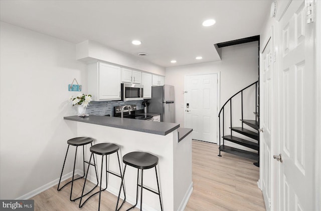
[(217, 143), (218, 74), (185, 76), (185, 127), (192, 138)]

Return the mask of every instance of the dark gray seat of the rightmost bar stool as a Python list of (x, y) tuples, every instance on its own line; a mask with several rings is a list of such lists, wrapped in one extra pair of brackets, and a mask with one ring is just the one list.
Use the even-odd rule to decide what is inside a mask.
[(139, 169), (152, 168), (158, 164), (158, 158), (147, 152), (130, 152), (123, 156), (122, 161)]

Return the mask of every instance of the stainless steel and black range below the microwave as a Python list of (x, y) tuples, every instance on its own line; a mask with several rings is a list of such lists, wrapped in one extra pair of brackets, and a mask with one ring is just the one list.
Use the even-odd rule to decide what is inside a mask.
[(136, 119), (136, 120), (150, 120), (152, 121), (152, 116), (145, 115), (144, 113), (136, 114), (136, 105), (120, 105), (114, 107), (114, 117)]

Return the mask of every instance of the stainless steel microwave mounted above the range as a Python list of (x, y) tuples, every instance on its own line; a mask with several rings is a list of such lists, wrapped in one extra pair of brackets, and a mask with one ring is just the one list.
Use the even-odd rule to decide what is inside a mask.
[(121, 83), (121, 100), (143, 99), (143, 85), (134, 83)]

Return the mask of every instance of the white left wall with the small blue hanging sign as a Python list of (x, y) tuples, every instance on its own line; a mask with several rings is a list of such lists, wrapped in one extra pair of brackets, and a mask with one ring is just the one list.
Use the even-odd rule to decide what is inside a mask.
[(86, 66), (75, 59), (75, 44), (4, 22), (0, 27), (0, 198), (25, 198), (60, 176), (66, 141), (76, 132), (63, 120), (76, 114), (68, 98), (78, 92), (68, 84), (76, 78), (85, 92)]

